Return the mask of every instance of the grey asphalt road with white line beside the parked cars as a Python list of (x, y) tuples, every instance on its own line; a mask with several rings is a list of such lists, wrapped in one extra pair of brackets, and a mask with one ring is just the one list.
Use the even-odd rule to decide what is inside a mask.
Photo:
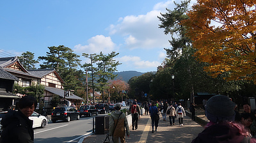
[[(104, 114), (100, 114), (104, 115)], [(35, 128), (36, 143), (59, 143), (59, 142), (78, 142), (84, 135), (92, 132), (93, 117), (81, 117), (79, 120), (70, 122), (57, 121), (45, 128)]]

